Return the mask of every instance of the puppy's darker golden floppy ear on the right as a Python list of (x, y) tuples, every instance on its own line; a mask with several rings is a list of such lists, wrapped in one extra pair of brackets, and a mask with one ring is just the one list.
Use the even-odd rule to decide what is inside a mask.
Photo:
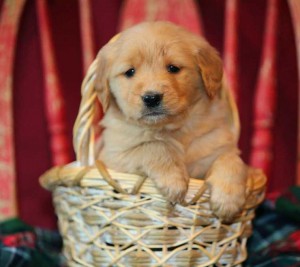
[(206, 93), (213, 98), (221, 89), (223, 64), (217, 52), (206, 41), (198, 41), (197, 63), (200, 68)]

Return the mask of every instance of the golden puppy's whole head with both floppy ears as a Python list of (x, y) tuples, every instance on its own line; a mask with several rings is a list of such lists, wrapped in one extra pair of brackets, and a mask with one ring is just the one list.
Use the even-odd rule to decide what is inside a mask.
[(186, 114), (221, 87), (222, 64), (203, 39), (167, 22), (137, 25), (104, 46), (96, 90), (129, 120), (157, 125)]

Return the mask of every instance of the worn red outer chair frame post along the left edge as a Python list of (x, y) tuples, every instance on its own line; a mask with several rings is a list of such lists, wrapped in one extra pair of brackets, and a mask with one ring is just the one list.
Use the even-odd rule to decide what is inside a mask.
[(0, 18), (0, 221), (17, 215), (13, 136), (13, 63), (25, 0), (6, 0)]

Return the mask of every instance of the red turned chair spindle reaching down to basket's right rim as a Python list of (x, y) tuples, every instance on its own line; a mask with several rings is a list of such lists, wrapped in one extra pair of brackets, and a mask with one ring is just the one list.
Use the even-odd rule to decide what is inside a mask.
[(254, 133), (250, 163), (270, 176), (272, 163), (272, 128), (276, 100), (276, 43), (278, 0), (268, 0), (263, 53), (254, 99)]

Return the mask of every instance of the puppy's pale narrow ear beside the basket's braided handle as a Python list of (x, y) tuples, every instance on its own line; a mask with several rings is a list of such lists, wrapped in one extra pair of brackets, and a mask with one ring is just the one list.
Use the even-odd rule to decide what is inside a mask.
[(106, 112), (110, 102), (110, 89), (108, 82), (109, 60), (107, 58), (107, 47), (104, 46), (97, 55), (97, 71), (95, 89), (98, 99), (102, 105), (103, 112)]

